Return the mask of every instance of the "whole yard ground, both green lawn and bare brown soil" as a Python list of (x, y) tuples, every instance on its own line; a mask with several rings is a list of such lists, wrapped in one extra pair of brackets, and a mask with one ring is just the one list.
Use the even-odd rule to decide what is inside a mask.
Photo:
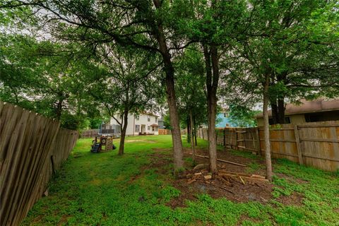
[[(205, 179), (183, 141), (186, 177), (174, 179), (171, 136), (127, 138), (124, 156), (90, 153), (80, 139), (23, 225), (339, 225), (338, 172), (273, 160), (273, 184)], [(206, 141), (197, 152), (208, 155)], [(219, 162), (227, 172), (265, 174), (260, 156), (219, 147), (218, 158), (246, 165)]]

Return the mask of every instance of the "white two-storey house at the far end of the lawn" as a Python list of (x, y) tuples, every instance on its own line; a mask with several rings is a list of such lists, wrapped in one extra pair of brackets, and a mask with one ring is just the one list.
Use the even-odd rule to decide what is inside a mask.
[[(142, 113), (136, 116), (135, 114), (129, 114), (127, 121), (126, 136), (146, 135), (146, 134), (158, 134), (157, 115), (152, 113)], [(103, 126), (106, 129), (113, 129), (116, 133), (121, 133), (120, 125), (111, 118), (109, 124)]]

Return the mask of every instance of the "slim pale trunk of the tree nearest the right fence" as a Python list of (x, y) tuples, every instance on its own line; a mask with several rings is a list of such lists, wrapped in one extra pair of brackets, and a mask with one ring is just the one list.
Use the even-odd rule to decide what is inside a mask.
[(268, 86), (269, 76), (266, 75), (266, 81), (263, 85), (263, 132), (265, 140), (265, 158), (266, 158), (266, 177), (272, 182), (272, 162), (270, 159), (270, 129), (268, 124)]

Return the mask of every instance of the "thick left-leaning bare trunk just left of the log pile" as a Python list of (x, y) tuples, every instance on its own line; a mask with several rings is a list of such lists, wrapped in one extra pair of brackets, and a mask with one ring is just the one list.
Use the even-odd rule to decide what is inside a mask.
[[(161, 7), (161, 2), (159, 0), (153, 0), (153, 3), (155, 8)], [(166, 97), (169, 108), (169, 121), (172, 126), (174, 174), (177, 174), (178, 171), (184, 169), (184, 161), (182, 160), (182, 136), (180, 133), (179, 115), (174, 89), (174, 67), (172, 64), (171, 55), (169, 54), (169, 49), (167, 47), (162, 24), (158, 23), (157, 28), (153, 29), (155, 29), (155, 37), (157, 39), (157, 43), (159, 44), (159, 50), (164, 61)]]

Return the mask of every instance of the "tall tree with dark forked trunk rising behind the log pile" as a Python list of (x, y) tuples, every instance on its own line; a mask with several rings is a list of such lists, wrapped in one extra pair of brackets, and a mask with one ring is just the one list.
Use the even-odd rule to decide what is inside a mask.
[[(217, 91), (220, 73), (220, 59), (230, 54), (232, 42), (238, 38), (244, 16), (244, 1), (184, 1), (191, 7), (189, 19), (182, 20), (182, 29), (189, 40), (199, 42), (204, 57), (207, 90), (208, 152), (210, 172), (218, 173), (215, 119), (217, 114)], [(191, 4), (189, 4), (190, 2)], [(189, 9), (188, 9), (189, 10)]]

